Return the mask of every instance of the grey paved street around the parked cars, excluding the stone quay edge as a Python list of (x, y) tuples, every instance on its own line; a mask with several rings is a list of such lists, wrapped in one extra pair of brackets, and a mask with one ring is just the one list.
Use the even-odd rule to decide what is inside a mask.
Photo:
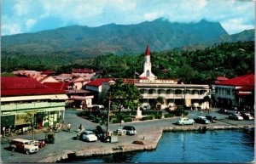
[[(79, 124), (83, 124), (86, 129), (95, 129), (97, 125), (96, 123), (89, 122), (84, 118), (77, 116), (79, 110), (66, 110), (65, 116), (65, 125), (67, 122), (71, 122), (72, 130), (77, 131), (79, 128)], [(216, 123), (212, 123), (207, 126), (225, 126), (225, 125), (254, 125), (254, 121), (234, 121), (228, 119), (228, 115), (219, 114), (217, 112), (210, 113), (211, 115), (217, 116), (220, 121)], [(195, 118), (196, 116), (200, 116), (200, 111), (190, 111), (189, 118)], [(203, 116), (207, 115), (207, 111), (204, 111)], [(8, 149), (9, 143), (1, 144), (1, 161), (3, 162), (38, 162), (44, 161), (44, 159), (52, 156), (54, 159), (55, 156), (60, 156), (60, 154), (68, 154), (68, 152), (72, 152), (75, 150), (90, 150), (90, 149), (113, 149), (113, 147), (118, 147), (120, 144), (131, 144), (134, 140), (141, 140), (145, 137), (145, 140), (150, 142), (152, 139), (151, 134), (154, 132), (159, 132), (160, 129), (164, 127), (177, 127), (173, 122), (177, 119), (177, 117), (154, 120), (154, 121), (145, 121), (145, 122), (130, 122), (124, 124), (132, 124), (137, 128), (137, 135), (135, 136), (119, 136), (119, 143), (102, 143), (101, 141), (96, 141), (93, 143), (87, 143), (81, 140), (73, 139), (76, 136), (75, 132), (68, 133), (66, 127), (64, 127), (61, 133), (55, 133), (55, 144), (47, 144), (43, 149), (40, 149), (37, 154), (26, 155), (20, 152), (12, 152)], [(122, 125), (124, 125), (122, 124)], [(195, 126), (201, 126), (201, 124), (196, 124)], [(110, 124), (110, 130), (116, 130), (119, 127), (119, 124)], [(102, 128), (106, 129), (106, 126), (102, 126)], [(19, 135), (9, 137), (8, 139), (32, 139), (32, 135)], [(35, 139), (44, 139), (44, 133), (36, 133)], [(136, 144), (134, 144), (136, 145)]]

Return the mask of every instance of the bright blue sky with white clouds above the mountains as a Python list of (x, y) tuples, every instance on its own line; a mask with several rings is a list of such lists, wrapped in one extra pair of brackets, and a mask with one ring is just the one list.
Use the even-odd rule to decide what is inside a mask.
[(220, 22), (229, 34), (254, 28), (254, 0), (2, 0), (1, 35), (67, 25)]

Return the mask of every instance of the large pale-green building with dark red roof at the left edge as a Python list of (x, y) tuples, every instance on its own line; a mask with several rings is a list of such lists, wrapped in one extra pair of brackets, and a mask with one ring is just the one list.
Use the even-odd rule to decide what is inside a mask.
[(38, 129), (52, 126), (58, 119), (64, 121), (67, 99), (61, 88), (49, 88), (32, 77), (1, 77), (1, 129), (29, 127), (27, 116), (37, 118)]

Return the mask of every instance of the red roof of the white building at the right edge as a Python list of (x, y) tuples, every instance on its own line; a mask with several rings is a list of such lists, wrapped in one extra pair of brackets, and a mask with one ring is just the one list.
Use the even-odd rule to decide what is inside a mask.
[(222, 82), (218, 82), (218, 85), (226, 86), (254, 86), (254, 75), (244, 75), (231, 78)]

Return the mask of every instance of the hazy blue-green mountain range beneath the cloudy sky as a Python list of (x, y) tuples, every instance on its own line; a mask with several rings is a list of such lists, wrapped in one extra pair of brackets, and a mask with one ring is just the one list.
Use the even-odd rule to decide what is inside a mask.
[(141, 54), (173, 48), (205, 48), (215, 43), (254, 41), (254, 30), (229, 35), (218, 22), (172, 23), (162, 18), (136, 25), (98, 27), (72, 25), (55, 30), (2, 37), (2, 54), (63, 52), (94, 57), (101, 54)]

